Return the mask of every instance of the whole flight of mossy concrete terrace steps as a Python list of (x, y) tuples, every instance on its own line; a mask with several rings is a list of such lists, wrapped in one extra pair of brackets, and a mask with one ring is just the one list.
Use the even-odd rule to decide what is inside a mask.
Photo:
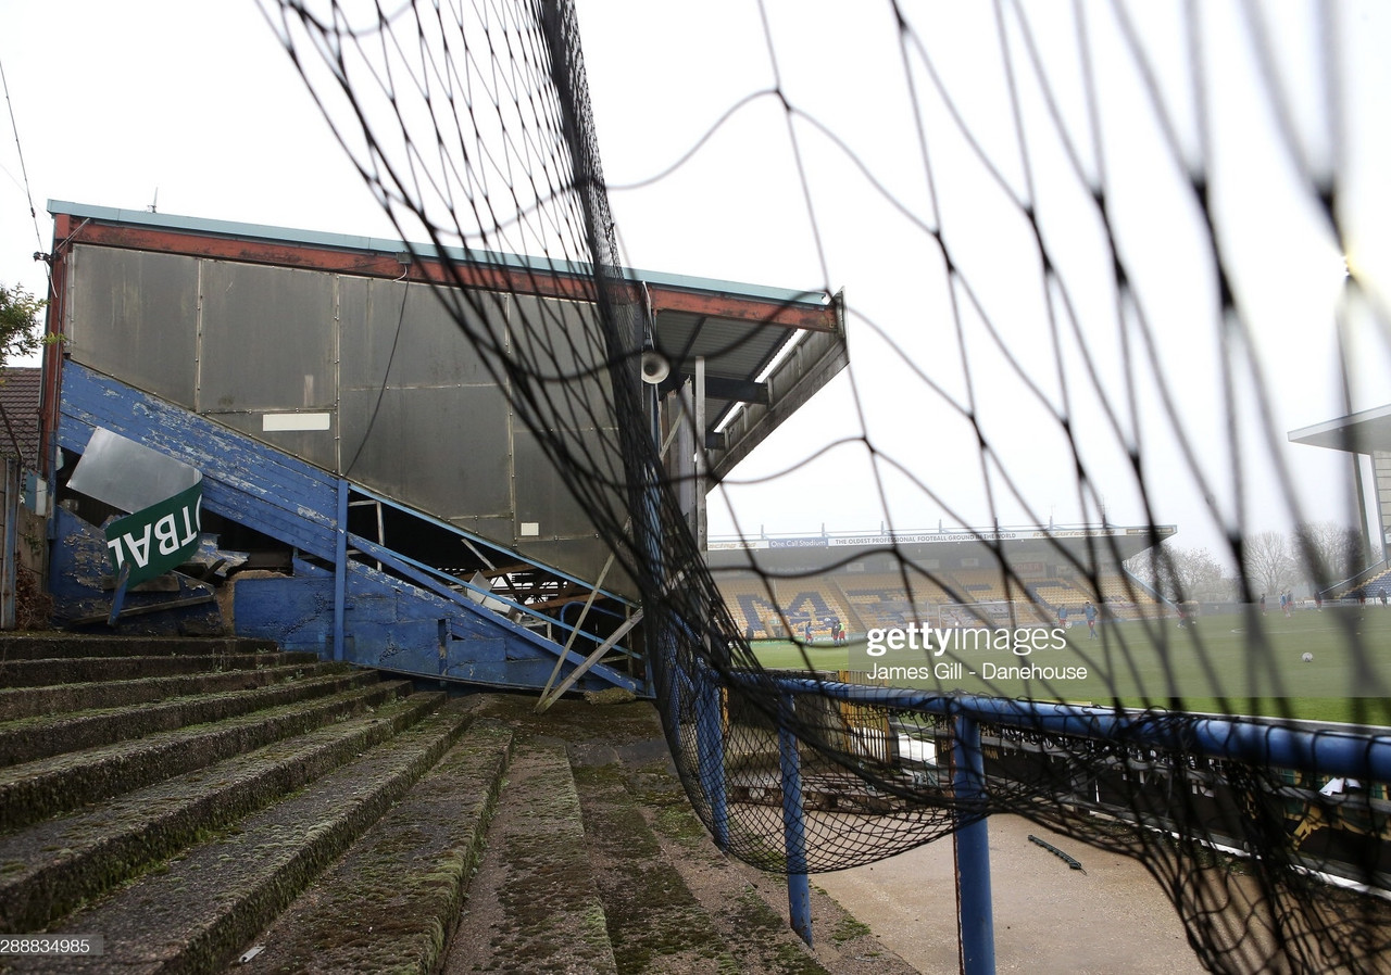
[(796, 938), (650, 701), (538, 715), (249, 639), (0, 661), (0, 932), (100, 946), (3, 971), (911, 971), (819, 893)]

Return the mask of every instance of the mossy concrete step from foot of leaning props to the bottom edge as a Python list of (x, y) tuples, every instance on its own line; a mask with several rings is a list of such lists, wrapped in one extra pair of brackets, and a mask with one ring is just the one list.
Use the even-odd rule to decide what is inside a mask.
[(524, 739), (442, 975), (616, 971), (565, 743)]

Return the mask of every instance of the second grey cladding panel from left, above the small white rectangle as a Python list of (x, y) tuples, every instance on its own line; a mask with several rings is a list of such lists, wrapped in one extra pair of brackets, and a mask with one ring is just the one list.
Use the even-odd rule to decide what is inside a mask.
[(331, 410), (335, 283), (314, 271), (206, 261), (199, 408)]

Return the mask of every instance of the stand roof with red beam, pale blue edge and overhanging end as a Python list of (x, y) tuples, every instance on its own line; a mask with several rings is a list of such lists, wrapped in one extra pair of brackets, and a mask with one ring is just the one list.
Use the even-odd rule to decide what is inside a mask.
[[(50, 200), (74, 243), (593, 300), (591, 268), (480, 249), (288, 229)], [(448, 258), (444, 260), (444, 258)], [(452, 268), (456, 275), (449, 276)], [(849, 364), (842, 296), (622, 268), (669, 362), (662, 393), (704, 360), (708, 476), (722, 479)]]

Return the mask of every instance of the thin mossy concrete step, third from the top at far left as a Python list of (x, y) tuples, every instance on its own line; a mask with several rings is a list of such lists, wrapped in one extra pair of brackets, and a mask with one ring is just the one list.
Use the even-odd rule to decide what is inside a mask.
[(314, 662), (262, 667), (250, 671), (209, 671), (167, 678), (136, 678), (135, 681), (97, 681), (92, 683), (60, 683), (43, 688), (0, 688), (0, 721), (32, 718), (63, 711), (88, 711), (122, 704), (163, 701), (189, 694), (216, 694), (224, 690), (252, 690), (266, 688), (294, 676), (338, 674), (348, 664)]

